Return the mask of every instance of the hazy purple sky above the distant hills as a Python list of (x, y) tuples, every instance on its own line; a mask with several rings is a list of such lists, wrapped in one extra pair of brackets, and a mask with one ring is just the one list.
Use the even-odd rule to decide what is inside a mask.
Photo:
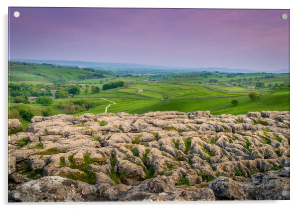
[(289, 17), (289, 10), (9, 8), (10, 58), (288, 69), (282, 13)]

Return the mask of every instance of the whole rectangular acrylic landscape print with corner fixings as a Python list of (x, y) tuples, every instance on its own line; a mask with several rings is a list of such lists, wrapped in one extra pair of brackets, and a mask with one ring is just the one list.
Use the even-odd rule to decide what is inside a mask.
[(289, 18), (9, 8), (9, 201), (289, 199)]

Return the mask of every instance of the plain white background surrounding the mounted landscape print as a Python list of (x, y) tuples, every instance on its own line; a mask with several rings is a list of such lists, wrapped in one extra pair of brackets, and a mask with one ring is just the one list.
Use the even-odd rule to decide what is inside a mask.
[[(1, 7), (1, 203), (5, 207), (22, 208), (83, 208), (83, 207), (110, 207), (111, 208), (291, 208), (302, 205), (301, 167), (302, 146), (301, 134), (301, 21), (302, 9), (300, 1), (193, 1), (193, 0), (11, 0), (0, 1)], [(144, 8), (230, 8), (230, 9), (290, 9), (290, 117), (291, 117), (291, 176), (290, 199), (284, 201), (212, 201), (212, 202), (89, 202), (89, 203), (10, 203), (8, 204), (8, 7), (144, 7)], [(300, 202), (301, 201), (301, 202)], [(88, 204), (88, 205), (86, 205)], [(300, 206), (298, 206), (300, 205)]]

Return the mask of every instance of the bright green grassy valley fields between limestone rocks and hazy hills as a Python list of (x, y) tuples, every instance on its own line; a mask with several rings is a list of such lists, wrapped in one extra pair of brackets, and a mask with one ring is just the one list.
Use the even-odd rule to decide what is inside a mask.
[[(29, 122), (19, 116), (20, 110), (29, 110), (35, 116), (41, 116), (42, 111), (51, 107), (54, 114), (67, 114), (62, 103), (72, 102), (76, 99), (87, 99), (92, 105), (89, 110), (74, 113), (99, 114), (111, 103), (103, 98), (116, 102), (108, 108), (108, 112), (126, 112), (142, 114), (149, 111), (211, 111), (212, 114), (246, 114), (249, 111), (262, 110), (289, 110), (289, 74), (271, 73), (245, 73), (228, 74), (218, 72), (188, 72), (136, 74), (135, 76), (113, 74), (101, 71), (103, 78), (94, 78), (94, 71), (76, 67), (64, 67), (48, 64), (15, 63), (9, 64), (9, 81), (13, 84), (30, 85), (35, 87), (44, 84), (46, 88), (50, 83), (65, 82), (67, 85), (80, 86), (80, 94), (73, 98), (54, 99), (50, 106), (37, 103), (14, 103), (9, 100), (9, 118), (18, 118), (27, 127)], [(120, 74), (120, 76), (117, 76)], [(91, 77), (82, 79), (83, 76)], [(101, 90), (92, 93), (91, 85), (99, 86), (111, 81), (124, 81), (126, 87)], [(212, 81), (215, 81), (213, 83)], [(211, 81), (211, 82), (210, 82)], [(249, 85), (262, 83), (255, 89), (247, 88)], [(41, 85), (40, 85), (41, 86)], [(40, 88), (40, 87), (39, 87)], [(50, 87), (49, 87), (50, 88)], [(88, 93), (84, 89), (89, 88)], [(143, 91), (137, 92), (142, 88)], [(249, 92), (256, 92), (259, 98), (248, 98)], [(10, 96), (10, 99), (13, 96)], [(163, 99), (164, 98), (164, 99)], [(231, 100), (237, 99), (239, 104), (232, 106)], [(61, 105), (60, 105), (61, 104)]]

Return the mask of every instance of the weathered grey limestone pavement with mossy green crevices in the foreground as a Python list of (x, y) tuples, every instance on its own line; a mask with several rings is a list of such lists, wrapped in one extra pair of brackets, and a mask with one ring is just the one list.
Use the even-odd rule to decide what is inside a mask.
[(9, 136), (9, 201), (289, 199), (289, 122), (276, 111), (34, 117)]

